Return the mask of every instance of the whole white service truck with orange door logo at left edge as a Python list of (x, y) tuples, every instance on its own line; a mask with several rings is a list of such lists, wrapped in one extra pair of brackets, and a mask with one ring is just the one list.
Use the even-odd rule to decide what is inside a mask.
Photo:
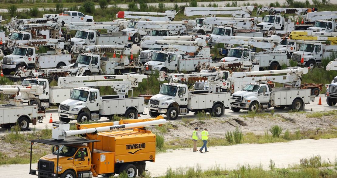
[(70, 65), (70, 54), (55, 54), (55, 52), (36, 54), (34, 47), (18, 47), (12, 54), (3, 57), (1, 69), (5, 75), (8, 75), (24, 66), (26, 69), (47, 69)]

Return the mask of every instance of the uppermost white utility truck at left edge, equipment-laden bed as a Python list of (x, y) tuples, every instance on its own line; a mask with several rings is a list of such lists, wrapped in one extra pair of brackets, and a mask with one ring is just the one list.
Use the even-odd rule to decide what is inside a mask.
[(62, 41), (59, 39), (60, 23), (26, 24), (26, 30), (16, 30), (9, 34), (8, 40), (3, 42), (1, 51), (8, 55), (21, 44), (29, 46), (55, 46)]

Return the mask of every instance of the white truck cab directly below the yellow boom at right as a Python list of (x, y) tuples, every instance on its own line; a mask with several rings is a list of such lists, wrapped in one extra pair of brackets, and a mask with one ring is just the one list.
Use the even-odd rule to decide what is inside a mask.
[(321, 43), (303, 43), (300, 44), (298, 51), (292, 54), (292, 60), (297, 61), (298, 65), (314, 67), (323, 59), (323, 44)]

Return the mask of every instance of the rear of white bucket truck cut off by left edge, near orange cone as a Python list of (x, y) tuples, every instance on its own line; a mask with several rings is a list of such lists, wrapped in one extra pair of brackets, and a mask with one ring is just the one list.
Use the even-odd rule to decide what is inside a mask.
[[(36, 121), (44, 118), (44, 108), (39, 108), (33, 99), (41, 95), (42, 86), (32, 85), (3, 85), (0, 93), (9, 95), (9, 104), (0, 105), (0, 127), (9, 129), (19, 125), (21, 130), (28, 130), (29, 123), (36, 125)], [(30, 98), (27, 100), (24, 98)]]

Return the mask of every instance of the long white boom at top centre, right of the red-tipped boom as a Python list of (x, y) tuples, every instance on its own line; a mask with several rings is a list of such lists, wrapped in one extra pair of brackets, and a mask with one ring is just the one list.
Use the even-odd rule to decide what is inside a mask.
[(185, 7), (185, 16), (196, 15), (232, 15), (233, 17), (250, 17), (254, 6), (242, 7)]

